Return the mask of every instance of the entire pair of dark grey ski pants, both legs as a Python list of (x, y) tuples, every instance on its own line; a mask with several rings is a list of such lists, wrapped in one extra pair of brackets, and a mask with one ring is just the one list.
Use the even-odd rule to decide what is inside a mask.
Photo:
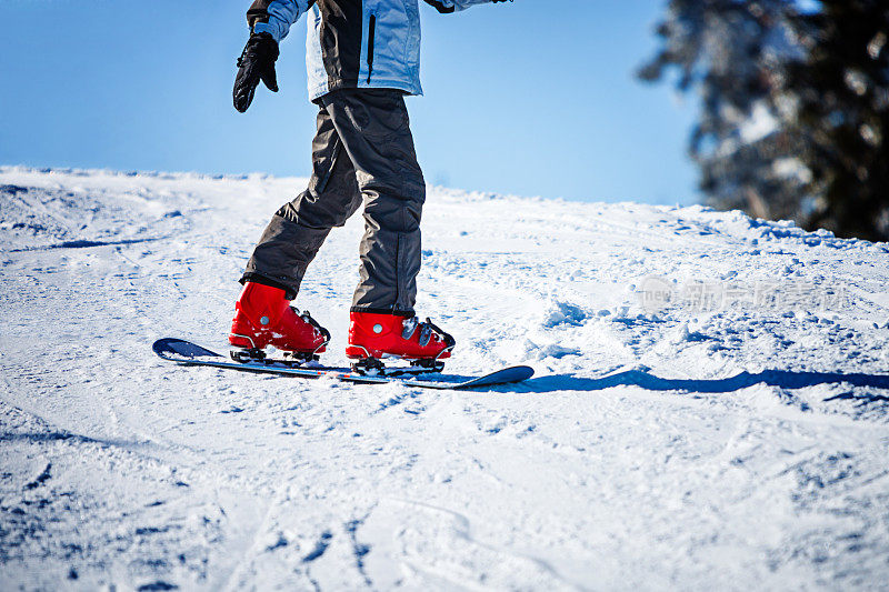
[(364, 235), (352, 310), (412, 315), (426, 200), (401, 91), (342, 89), (316, 101), (309, 187), (272, 217), (241, 279), (299, 292), (331, 228), (363, 202)]

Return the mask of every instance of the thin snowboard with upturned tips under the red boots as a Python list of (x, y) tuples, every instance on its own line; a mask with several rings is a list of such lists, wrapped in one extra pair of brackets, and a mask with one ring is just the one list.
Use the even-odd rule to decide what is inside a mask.
[[(236, 362), (224, 355), (202, 348), (190, 341), (176, 338), (159, 339), (151, 347), (158, 357), (168, 362), (176, 362), (182, 365), (203, 365), (211, 368), (223, 368), (228, 370), (240, 370), (242, 372), (256, 372), (262, 374), (278, 374), (286, 377), (297, 377), (303, 379), (333, 378), (343, 382), (356, 384), (388, 384), (400, 382), (409, 387), (437, 390), (467, 390), (480, 389), (485, 387), (496, 387), (499, 384), (511, 384), (531, 378), (533, 369), (527, 365), (515, 365), (505, 368), (482, 377), (457, 378), (450, 380), (447, 377), (420, 380), (416, 375), (371, 375), (359, 374), (348, 368), (318, 367), (318, 365), (293, 365), (281, 361), (250, 361)], [(455, 377), (456, 378), (456, 377)]]

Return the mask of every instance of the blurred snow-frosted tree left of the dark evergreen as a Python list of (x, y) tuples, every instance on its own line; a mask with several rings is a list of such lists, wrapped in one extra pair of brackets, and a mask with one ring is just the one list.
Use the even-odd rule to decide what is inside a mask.
[(808, 180), (793, 161), (797, 141), (781, 124), (783, 67), (802, 56), (789, 34), (790, 2), (671, 0), (657, 33), (662, 47), (639, 72), (660, 80), (679, 70), (678, 88), (697, 89), (700, 120), (691, 157), (708, 201), (761, 218), (795, 217)]

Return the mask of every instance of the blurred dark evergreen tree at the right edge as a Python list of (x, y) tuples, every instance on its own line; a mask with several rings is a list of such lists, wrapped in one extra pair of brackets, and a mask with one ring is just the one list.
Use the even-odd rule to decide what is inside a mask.
[(818, 198), (806, 223), (889, 240), (889, 3), (823, 0), (793, 27), (807, 59), (790, 64), (785, 92)]

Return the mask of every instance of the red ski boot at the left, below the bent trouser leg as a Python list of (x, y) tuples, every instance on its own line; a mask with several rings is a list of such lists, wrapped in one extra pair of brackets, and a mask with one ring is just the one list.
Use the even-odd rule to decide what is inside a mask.
[(328, 330), (308, 311), (300, 314), (292, 308), (279, 288), (247, 282), (234, 309), (229, 343), (247, 350), (238, 352), (236, 360), (262, 359), (268, 345), (308, 360), (324, 351), (330, 341)]

